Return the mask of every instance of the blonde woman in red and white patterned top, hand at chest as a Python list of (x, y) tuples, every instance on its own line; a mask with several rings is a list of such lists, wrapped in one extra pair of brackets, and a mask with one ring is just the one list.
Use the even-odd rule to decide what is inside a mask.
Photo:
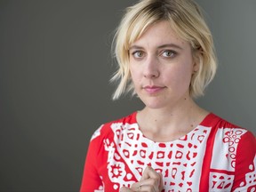
[(252, 132), (194, 99), (216, 72), (212, 35), (191, 0), (142, 0), (115, 36), (119, 85), (145, 108), (92, 135), (81, 191), (255, 191)]

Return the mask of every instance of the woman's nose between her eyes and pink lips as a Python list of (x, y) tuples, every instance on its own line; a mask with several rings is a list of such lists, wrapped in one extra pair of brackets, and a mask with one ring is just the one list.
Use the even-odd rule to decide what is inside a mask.
[(148, 58), (145, 62), (143, 76), (146, 78), (157, 78), (159, 74), (158, 61), (154, 58)]

